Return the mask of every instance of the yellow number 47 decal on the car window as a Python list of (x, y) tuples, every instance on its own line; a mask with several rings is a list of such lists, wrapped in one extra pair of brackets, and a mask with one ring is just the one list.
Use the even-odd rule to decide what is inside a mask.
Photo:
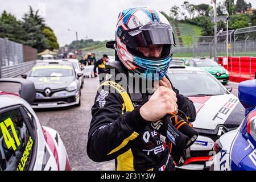
[[(9, 127), (9, 126), (11, 126), (11, 131), (13, 132), (13, 136), (14, 136), (16, 145), (15, 145), (13, 137), (11, 137), (11, 134), (7, 130), (7, 127)], [(20, 142), (19, 142), (19, 138), (16, 133), (16, 130), (14, 128), (13, 121), (11, 121), (11, 118), (8, 118), (4, 122), (1, 122), (0, 127), (1, 127), (1, 130), (3, 133), (3, 139), (5, 139), (7, 148), (9, 149), (9, 148), (13, 147), (13, 150), (15, 151), (16, 146), (18, 147), (20, 145)]]

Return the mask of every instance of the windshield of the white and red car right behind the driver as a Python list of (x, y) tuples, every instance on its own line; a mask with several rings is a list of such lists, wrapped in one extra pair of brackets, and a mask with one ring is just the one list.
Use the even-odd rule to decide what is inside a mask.
[(212, 76), (204, 71), (168, 71), (168, 77), (184, 96), (214, 96), (228, 93)]

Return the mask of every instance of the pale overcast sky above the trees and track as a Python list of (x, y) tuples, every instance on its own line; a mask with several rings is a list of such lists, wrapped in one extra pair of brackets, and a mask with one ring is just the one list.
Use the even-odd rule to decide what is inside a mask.
[[(198, 5), (209, 3), (210, 0), (187, 0)], [(223, 2), (224, 0), (217, 2)], [(174, 5), (180, 6), (183, 0), (0, 0), (0, 13), (3, 10), (21, 19), (28, 12), (29, 5), (34, 10), (40, 9), (46, 19), (46, 24), (53, 29), (60, 46), (69, 44), (76, 39), (110, 40), (114, 39), (115, 23), (120, 11), (130, 7), (151, 7), (170, 13)], [(236, 0), (235, 0), (236, 2)], [(255, 0), (246, 0), (256, 7)]]

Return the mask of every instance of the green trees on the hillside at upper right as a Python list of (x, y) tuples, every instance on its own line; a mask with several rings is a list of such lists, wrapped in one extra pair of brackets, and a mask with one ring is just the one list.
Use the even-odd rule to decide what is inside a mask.
[[(217, 16), (229, 16), (229, 30), (256, 25), (256, 10), (253, 14), (246, 14), (252, 8), (251, 3), (244, 0), (225, 0), (217, 4)], [(184, 1), (181, 7), (172, 6), (170, 14), (164, 15), (170, 21), (187, 22), (202, 27), (202, 35), (214, 35), (213, 7), (207, 4), (193, 5)], [(222, 20), (217, 22), (218, 30), (226, 30), (226, 23)]]

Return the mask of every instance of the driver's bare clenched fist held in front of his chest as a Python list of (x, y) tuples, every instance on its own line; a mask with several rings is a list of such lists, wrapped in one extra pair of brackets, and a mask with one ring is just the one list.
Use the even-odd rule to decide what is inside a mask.
[(177, 109), (177, 97), (174, 90), (166, 86), (159, 86), (154, 94), (139, 110), (146, 121), (158, 121), (164, 115)]

